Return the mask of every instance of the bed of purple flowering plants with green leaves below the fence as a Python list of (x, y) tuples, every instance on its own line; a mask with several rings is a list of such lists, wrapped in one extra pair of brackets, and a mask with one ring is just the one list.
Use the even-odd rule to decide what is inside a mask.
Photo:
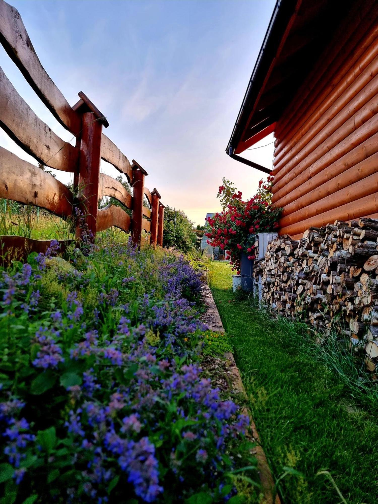
[(188, 261), (56, 253), (0, 272), (2, 501), (257, 502), (249, 419), (201, 368)]

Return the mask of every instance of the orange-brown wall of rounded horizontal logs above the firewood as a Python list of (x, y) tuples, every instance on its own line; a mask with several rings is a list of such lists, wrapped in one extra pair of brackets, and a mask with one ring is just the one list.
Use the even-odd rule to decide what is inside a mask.
[(378, 216), (378, 7), (346, 19), (275, 129), (280, 234)]

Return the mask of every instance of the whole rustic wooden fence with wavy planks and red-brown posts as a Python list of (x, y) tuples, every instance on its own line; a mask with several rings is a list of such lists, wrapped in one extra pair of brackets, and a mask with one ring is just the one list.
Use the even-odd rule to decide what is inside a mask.
[[(76, 224), (76, 238), (83, 229), (95, 235), (116, 226), (131, 232), (133, 242), (141, 243), (142, 231), (149, 233), (155, 246), (163, 242), (164, 205), (160, 194), (145, 186), (147, 171), (135, 160), (132, 163), (104, 135), (109, 123), (105, 116), (83, 93), (71, 107), (42, 67), (18, 11), (0, 0), (0, 42), (54, 117), (76, 137), (76, 145), (61, 140), (41, 121), (18, 94), (0, 68), (0, 125), (6, 133), (38, 162), (57, 170), (73, 173), (74, 194), (59, 180), (40, 168), (23, 161), (0, 147), (0, 198), (44, 208)], [(129, 194), (116, 179), (100, 173), (100, 159), (123, 173), (133, 188)], [(121, 207), (108, 205), (98, 210), (99, 199), (115, 198)], [(147, 198), (151, 208), (143, 204)], [(78, 212), (79, 210), (79, 212)], [(77, 215), (84, 216), (85, 226)], [(83, 219), (82, 219), (83, 220)], [(50, 241), (31, 240), (19, 236), (0, 236), (3, 250), (14, 247), (30, 251), (45, 251)], [(64, 248), (65, 243), (60, 242)]]

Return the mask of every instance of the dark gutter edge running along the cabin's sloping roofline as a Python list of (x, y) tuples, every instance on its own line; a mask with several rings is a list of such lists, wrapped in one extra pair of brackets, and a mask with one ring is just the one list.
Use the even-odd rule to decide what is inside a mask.
[(254, 101), (254, 99), (256, 99), (257, 94), (260, 91), (259, 85), (261, 86), (265, 78), (265, 74), (276, 55), (282, 35), (284, 34), (290, 17), (294, 12), (295, 5), (296, 2), (293, 0), (277, 0), (268, 25), (267, 33), (265, 34), (263, 40), (263, 45), (261, 46), (254, 70), (249, 79), (230, 140), (228, 141), (226, 148), (227, 154), (229, 154), (230, 146), (235, 149), (240, 141), (241, 134), (246, 126), (250, 112), (246, 110), (246, 108)]

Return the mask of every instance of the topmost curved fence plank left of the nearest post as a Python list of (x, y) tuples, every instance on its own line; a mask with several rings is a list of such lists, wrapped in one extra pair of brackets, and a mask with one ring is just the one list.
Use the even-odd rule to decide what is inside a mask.
[(77, 135), (80, 116), (42, 67), (19, 12), (3, 0), (0, 0), (0, 42), (54, 117)]

